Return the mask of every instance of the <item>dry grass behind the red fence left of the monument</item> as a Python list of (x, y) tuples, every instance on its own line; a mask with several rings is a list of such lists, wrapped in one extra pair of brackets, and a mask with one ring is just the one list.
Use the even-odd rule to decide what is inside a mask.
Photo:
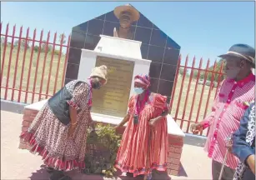
[[(46, 94), (47, 89), (48, 94), (52, 95), (54, 90), (54, 82), (57, 81), (56, 90), (60, 89), (62, 87), (62, 77), (63, 77), (63, 67), (65, 62), (65, 57), (60, 57), (60, 62), (58, 64), (58, 55), (53, 55), (53, 62), (52, 61), (52, 53), (45, 54), (44, 52), (40, 53), (40, 56), (38, 57), (38, 52), (33, 52), (33, 58), (32, 57), (32, 51), (30, 49), (27, 50), (26, 54), (24, 54), (23, 49), (21, 48), (19, 54), (18, 49), (16, 47), (13, 48), (12, 56), (11, 54), (11, 47), (6, 48), (5, 52), (5, 58), (4, 58), (4, 64), (3, 64), (3, 47), (1, 47), (1, 69), (3, 66), (3, 82), (1, 83), (1, 98), (5, 97), (6, 90), (3, 87), (13, 87), (14, 77), (16, 79), (14, 88), (19, 89), (21, 88), (23, 91), (21, 93), (21, 100), (20, 102), (26, 102), (25, 97), (26, 94), (28, 96), (27, 103), (32, 103), (32, 92), (40, 92), (40, 87), (42, 87), (42, 93)], [(46, 61), (44, 61), (44, 57), (46, 55)], [(18, 57), (17, 57), (18, 56)], [(16, 59), (18, 59), (18, 66), (17, 66), (17, 72), (15, 74), (15, 67), (16, 67)], [(23, 66), (24, 61), (24, 66)], [(38, 61), (38, 70), (37, 70), (37, 61)], [(31, 62), (31, 63), (30, 63)], [(44, 69), (44, 75), (43, 75), (43, 63), (45, 62), (45, 69)], [(8, 67), (10, 64), (10, 70), (9, 70), (9, 79), (8, 78)], [(31, 66), (31, 68), (30, 68)], [(51, 69), (51, 76), (49, 77)], [(23, 69), (23, 78), (22, 78), (22, 69)], [(57, 71), (58, 69), (58, 71)], [(36, 75), (37, 72), (37, 77)], [(30, 76), (28, 76), (28, 73), (30, 73)], [(57, 74), (58, 73), (58, 74)], [(56, 77), (57, 75), (57, 77)], [(43, 77), (42, 77), (43, 76)], [(22, 79), (21, 79), (22, 78)], [(41, 84), (42, 81), (42, 84)], [(20, 83), (22, 82), (22, 86), (20, 86)], [(35, 85), (35, 86), (34, 86)], [(27, 88), (28, 87), (28, 88)], [(34, 91), (33, 91), (34, 89)], [(7, 90), (7, 100), (11, 100), (12, 94), (14, 93), (13, 101), (18, 102), (18, 91), (17, 90)], [(40, 99), (45, 98), (46, 96), (39, 97), (37, 94), (35, 95), (35, 99), (33, 102), (37, 102)], [(39, 99), (40, 98), (40, 99)]]

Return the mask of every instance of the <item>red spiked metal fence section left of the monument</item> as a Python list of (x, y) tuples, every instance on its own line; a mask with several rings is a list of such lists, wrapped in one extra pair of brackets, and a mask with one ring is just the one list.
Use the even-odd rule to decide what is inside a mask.
[(64, 84), (70, 35), (2, 26), (1, 98), (29, 104), (53, 96)]

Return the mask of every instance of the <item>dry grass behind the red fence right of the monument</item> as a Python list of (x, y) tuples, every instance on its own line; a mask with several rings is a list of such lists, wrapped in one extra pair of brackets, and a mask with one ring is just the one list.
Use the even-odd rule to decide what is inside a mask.
[[(207, 116), (208, 112), (210, 112), (211, 104), (214, 100), (217, 88), (213, 87), (213, 89), (210, 89), (210, 87), (208, 86), (203, 86), (202, 84), (198, 84), (196, 89), (197, 82), (196, 82), (196, 79), (193, 79), (192, 82), (190, 83), (190, 88), (188, 90), (189, 77), (185, 77), (183, 83), (182, 83), (182, 79), (183, 77), (179, 75), (177, 85), (175, 88), (175, 93), (173, 96), (173, 107), (172, 107), (171, 115), (174, 119), (177, 119), (176, 122), (180, 125), (180, 128), (183, 130), (183, 132), (187, 132), (188, 126), (189, 126), (188, 120), (191, 121), (192, 123), (201, 122), (203, 120), (203, 117)], [(180, 98), (180, 101), (178, 104), (179, 98)], [(186, 98), (187, 98), (187, 102), (186, 102)], [(193, 101), (193, 98), (194, 98), (194, 101)], [(207, 101), (208, 101), (208, 106), (207, 106)], [(186, 121), (182, 122), (180, 119), (187, 120), (187, 122)], [(204, 131), (203, 135), (206, 135), (206, 133), (207, 132)]]

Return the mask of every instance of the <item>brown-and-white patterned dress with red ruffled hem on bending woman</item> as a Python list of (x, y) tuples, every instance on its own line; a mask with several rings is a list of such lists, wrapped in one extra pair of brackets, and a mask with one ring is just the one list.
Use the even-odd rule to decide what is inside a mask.
[[(88, 122), (91, 121), (92, 87), (90, 82), (68, 82), (68, 91), (73, 98), (68, 102), (78, 109), (78, 123), (73, 137), (68, 138), (68, 126), (54, 116), (48, 103), (38, 112), (28, 132), (20, 138), (31, 146), (31, 153), (38, 153), (43, 162), (57, 170), (73, 170), (85, 168), (86, 140)], [(76, 84), (76, 85), (75, 85)]]

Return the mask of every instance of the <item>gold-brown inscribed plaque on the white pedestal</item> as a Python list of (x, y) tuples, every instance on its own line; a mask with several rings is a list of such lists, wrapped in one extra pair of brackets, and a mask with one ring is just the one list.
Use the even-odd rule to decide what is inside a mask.
[(97, 57), (95, 66), (101, 65), (108, 67), (108, 83), (101, 89), (93, 91), (92, 112), (124, 117), (128, 110), (134, 62)]

